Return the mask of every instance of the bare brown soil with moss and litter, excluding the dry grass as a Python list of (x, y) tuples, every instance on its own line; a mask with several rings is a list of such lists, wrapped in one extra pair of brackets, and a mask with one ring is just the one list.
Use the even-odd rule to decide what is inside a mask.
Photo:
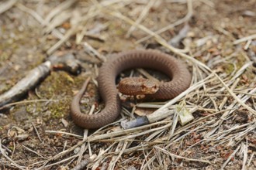
[[(107, 2), (112, 1), (99, 1), (99, 3), (103, 2), (107, 4)], [(68, 36), (64, 43), (54, 51), (54, 54), (74, 53), (74, 56), (80, 60), (82, 67), (82, 73), (77, 76), (63, 70), (52, 70), (46, 79), (36, 86), (35, 89), (29, 90), (27, 95), (21, 99), (21, 101), (31, 100), (31, 102), (17, 104), (9, 108), (9, 110), (0, 110), (0, 138), (2, 148), (5, 149), (5, 154), (8, 155), (13, 162), (27, 169), (40, 168), (43, 165), (50, 165), (54, 162), (58, 163), (45, 169), (70, 169), (76, 165), (76, 157), (68, 161), (60, 162), (61, 160), (71, 158), (75, 155), (74, 151), (68, 152), (67, 155), (63, 155), (56, 160), (51, 160), (50, 158), (61, 153), (61, 151), (77, 145), (84, 134), (84, 130), (77, 127), (72, 122), (69, 114), (69, 105), (71, 104), (72, 97), (74, 97), (74, 93), (79, 90), (88, 75), (96, 78), (97, 70), (102, 63), (97, 57), (86, 53), (83, 45), (84, 42), (88, 42), (88, 44), (96, 49), (97, 52), (106, 56), (106, 58), (108, 58), (111, 53), (128, 49), (153, 48), (182, 59), (181, 56), (161, 46), (161, 44), (152, 37), (141, 42), (140, 39), (148, 36), (148, 33), (141, 29), (135, 28), (133, 32), (130, 33), (130, 36), (127, 36), (127, 32), (131, 27), (130, 24), (109, 13), (111, 10), (118, 11), (129, 19), (136, 21), (140, 13), (150, 2), (116, 1), (113, 5), (106, 5), (106, 7), (104, 7), (106, 10), (110, 9), (109, 11), (105, 12), (102, 9), (102, 11), (98, 10), (98, 12), (95, 12), (97, 11), (96, 1), (74, 1), (68, 8), (61, 9), (60, 12), (57, 12), (57, 7), (61, 6), (61, 3), (63, 4), (64, 1), (22, 0), (16, 2), (12, 8), (9, 8), (9, 10), (0, 15), (0, 93), (8, 91), (21, 80), (22, 77), (26, 76), (29, 70), (43, 63), (53, 54), (50, 49), (54, 44), (60, 41), (57, 32), (64, 36), (67, 32), (73, 30), (71, 36)], [(24, 8), (22, 8), (24, 6), (33, 10), (36, 14), (28, 9), (24, 10)], [(248, 47), (247, 43), (249, 42), (247, 41), (234, 44), (237, 39), (256, 34), (255, 0), (195, 0), (192, 1), (192, 8), (192, 18), (187, 22), (190, 26), (189, 32), (187, 32), (185, 39), (182, 39), (182, 42), (178, 44), (177, 48), (184, 49), (186, 46), (189, 46), (189, 51), (186, 52), (189, 56), (206, 64), (211, 70), (216, 70), (219, 75), (222, 75), (222, 73), (230, 75), (234, 70), (239, 70), (241, 66), (244, 66), (244, 63), (256, 61), (255, 38), (251, 39)], [(47, 19), (47, 16), (49, 17), (48, 14), (54, 10), (56, 10), (57, 14), (50, 19), (50, 23), (43, 24), (36, 19), (36, 15), (39, 15), (42, 19)], [(156, 1), (155, 4), (150, 7), (147, 15), (142, 19), (140, 24), (156, 32), (158, 29), (164, 28), (182, 19), (187, 12), (186, 1)], [(67, 17), (68, 15), (69, 17)], [(61, 21), (64, 17), (67, 17), (67, 19)], [(76, 19), (80, 19), (79, 17), (84, 18), (84, 20), (76, 21)], [(54, 21), (54, 19), (56, 19), (56, 21)], [(60, 23), (55, 25), (54, 23), (57, 23), (57, 21)], [(76, 27), (74, 28), (73, 26)], [(178, 32), (184, 26), (185, 23), (182, 23), (162, 32), (160, 36), (168, 42), (171, 38), (177, 36)], [(87, 34), (81, 36), (85, 31), (87, 31)], [(81, 41), (79, 41), (78, 36), (81, 37)], [(227, 58), (227, 62), (221, 62), (215, 65), (211, 65), (210, 63), (210, 61), (214, 61), (214, 59), (218, 61), (218, 59), (225, 58)], [(189, 63), (188, 60), (186, 63), (189, 66), (189, 70), (192, 71), (193, 64)], [(239, 87), (249, 87), (255, 80), (255, 72), (253, 66), (249, 67), (247, 72), (240, 77), (241, 81)], [(255, 109), (254, 97), (248, 100), (247, 104)], [(99, 98), (95, 83), (91, 83), (85, 93), (85, 97), (81, 100), (81, 108), (85, 112), (88, 112), (92, 104), (96, 104), (96, 110), (99, 110), (100, 107), (98, 106), (102, 106), (102, 104), (99, 104)], [(38, 99), (46, 99), (49, 101), (33, 102), (33, 100)], [(191, 102), (193, 101), (192, 99), (189, 100)], [(229, 103), (233, 100), (232, 97), (228, 98)], [(198, 104), (200, 104), (200, 101)], [(214, 108), (214, 106), (209, 106), (209, 109), (212, 108)], [(240, 110), (237, 110), (240, 114), (237, 114), (234, 121), (226, 122), (230, 127), (235, 124), (255, 122), (256, 117), (254, 114), (248, 114), (244, 117), (247, 110), (244, 109), (244, 107)], [(200, 118), (206, 115), (207, 113), (201, 112), (195, 113), (194, 116)], [(111, 125), (109, 127), (113, 128)], [(51, 133), (50, 131), (78, 134), (81, 137), (78, 138), (72, 135)], [(89, 131), (89, 134), (92, 133), (94, 133), (94, 131)], [(189, 141), (188, 138), (184, 138), (183, 141), (180, 141), (180, 144), (186, 144), (189, 148), (189, 146), (200, 139), (202, 135), (200, 131), (195, 131), (188, 137), (193, 138), (195, 141)], [(247, 134), (246, 137), (244, 136), (241, 141), (237, 141), (246, 142), (246, 148), (244, 149), (247, 149), (247, 162), (249, 162), (251, 158), (247, 169), (256, 168), (255, 136), (256, 131), (252, 130), (251, 133)], [(143, 138), (136, 138), (134, 140), (135, 142), (127, 148), (144, 143)], [(113, 144), (114, 141), (94, 141), (91, 144), (92, 154), (99, 155), (100, 151), (107, 149)], [(154, 148), (154, 144), (151, 145), (153, 145)], [(116, 148), (118, 148), (118, 146), (116, 146)], [(146, 167), (145, 169), (219, 169), (236, 148), (235, 145), (231, 147), (219, 145), (213, 148), (212, 151), (209, 151), (207, 146), (202, 144), (200, 147), (195, 148), (195, 150), (185, 152), (185, 154), (182, 155), (186, 158), (205, 158), (209, 160), (211, 164), (205, 162), (190, 162), (170, 155), (164, 157), (164, 162), (157, 162), (156, 160), (150, 162), (152, 155), (160, 153), (150, 152), (149, 155), (144, 155), (144, 151), (133, 151), (121, 155), (121, 158), (118, 159), (114, 167), (115, 169), (140, 169), (143, 165), (148, 163), (150, 167)], [(154, 151), (154, 149), (152, 149), (152, 151)], [(171, 153), (179, 155), (181, 154), (179, 149), (185, 151), (185, 148), (179, 148), (178, 143), (174, 148), (168, 148), (168, 151), (173, 151)], [(198, 149), (198, 151), (196, 151), (196, 149)], [(2, 151), (0, 151), (1, 169), (19, 169), (19, 167), (10, 162), (10, 160), (1, 153)], [(89, 155), (88, 150), (85, 151), (83, 158), (87, 155)], [(112, 158), (110, 155), (111, 152), (106, 154), (106, 157), (102, 158), (98, 166), (94, 165), (94, 169), (108, 167)], [(242, 155), (235, 155), (230, 159), (230, 162), (227, 163), (225, 168), (242, 168), (243, 158)], [(129, 159), (131, 159), (131, 161), (129, 161)], [(89, 167), (92, 168), (92, 166)]]

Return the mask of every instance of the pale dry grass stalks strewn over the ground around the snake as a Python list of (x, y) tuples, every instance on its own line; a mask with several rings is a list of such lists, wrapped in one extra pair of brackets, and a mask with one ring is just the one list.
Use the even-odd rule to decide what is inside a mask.
[[(173, 53), (186, 61), (192, 70), (193, 77), (191, 87), (175, 99), (167, 103), (156, 102), (137, 105), (137, 107), (156, 108), (154, 114), (171, 112), (171, 116), (139, 128), (123, 130), (119, 123), (130, 119), (127, 115), (132, 115), (123, 109), (122, 118), (119, 121), (100, 128), (90, 135), (88, 135), (88, 130), (85, 130), (84, 136), (63, 131), (46, 131), (47, 134), (63, 134), (67, 137), (78, 138), (80, 141), (77, 145), (64, 148), (57, 155), (52, 155), (51, 158), (45, 158), (40, 153), (24, 146), (41, 158), (40, 162), (27, 163), (27, 167), (47, 169), (62, 165), (61, 169), (67, 169), (70, 165), (79, 164), (83, 161), (84, 155), (90, 162), (86, 161), (83, 164), (88, 164), (90, 169), (98, 169), (99, 167), (102, 169), (116, 169), (116, 167), (123, 169), (170, 169), (171, 167), (224, 169), (228, 165), (232, 165), (234, 161), (242, 162), (240, 164), (241, 169), (254, 167), (255, 152), (252, 151), (252, 148), (255, 149), (256, 136), (256, 108), (254, 104), (256, 78), (254, 77), (254, 80), (250, 81), (243, 78), (244, 73), (251, 69), (252, 62), (244, 53), (245, 61), (239, 68), (234, 66), (230, 73), (225, 73), (220, 66), (222, 63), (234, 64), (237, 57), (236, 51), (218, 60), (215, 57), (208, 57), (207, 62), (204, 63), (200, 61), (199, 57), (195, 58), (195, 51), (207, 51), (206, 42), (202, 42), (202, 45), (196, 47), (193, 47), (195, 42), (190, 42), (189, 47), (187, 46), (189, 51), (170, 46), (168, 40), (165, 40), (161, 33), (189, 22), (193, 14), (193, 4), (192, 0), (177, 1), (187, 5), (185, 17), (164, 28), (158, 28), (157, 31), (152, 31), (144, 24), (147, 23), (147, 17), (151, 17), (149, 15), (150, 8), (161, 2), (154, 0), (148, 3), (142, 2), (145, 8), (138, 12), (136, 20), (126, 15), (128, 5), (140, 4), (134, 0), (101, 2), (96, 0), (91, 2), (67, 0), (52, 8), (44, 17), (21, 2), (16, 2), (16, 8), (28, 12), (41, 24), (46, 36), (51, 34), (57, 37), (58, 41), (47, 50), (47, 54), (54, 53), (61, 46), (70, 46), (73, 43), (71, 37), (75, 36), (77, 44), (86, 43), (86, 47), (89, 47), (89, 51), (93, 53), (92, 56), (104, 61), (105, 56), (93, 49), (88, 42), (83, 41), (83, 37), (88, 35), (85, 29), (88, 22), (104, 19), (104, 22), (108, 24), (121, 22), (129, 25), (125, 30), (127, 39), (133, 32), (142, 32), (144, 37), (136, 39), (137, 46), (141, 46), (142, 42), (147, 41), (147, 39), (161, 44), (164, 51)], [(175, 1), (169, 2), (177, 3)], [(214, 5), (210, 1), (203, 3)], [(79, 8), (78, 4), (80, 5)], [(64, 33), (60, 32), (58, 26), (67, 21), (71, 23), (70, 28)], [(209, 36), (209, 39), (214, 39), (214, 37)], [(233, 43), (234, 45), (242, 42), (249, 43), (253, 39), (255, 39), (255, 34), (242, 39), (235, 39)], [(201, 40), (203, 41), (203, 39)], [(247, 81), (245, 82), (247, 84), (245, 85), (242, 80)], [(181, 101), (185, 101), (184, 107), (195, 115), (195, 119), (185, 126), (177, 125), (177, 119), (173, 119), (175, 117), (175, 104), (179, 104)], [(99, 144), (106, 145), (99, 148)], [(0, 141), (1, 157), (5, 157), (5, 161), (1, 159), (1, 162), (9, 162), (12, 167), (26, 169), (26, 166), (22, 166), (22, 160), (12, 160), (12, 157), (5, 154), (6, 150), (7, 148), (3, 148)]]

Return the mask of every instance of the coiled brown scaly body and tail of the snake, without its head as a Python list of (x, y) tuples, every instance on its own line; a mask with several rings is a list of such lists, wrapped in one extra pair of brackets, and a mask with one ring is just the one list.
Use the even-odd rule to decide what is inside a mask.
[(113, 54), (106, 63), (102, 64), (99, 70), (99, 93), (105, 102), (105, 108), (99, 114), (81, 113), (79, 102), (85, 92), (87, 80), (71, 103), (71, 117), (74, 123), (82, 128), (93, 129), (101, 128), (115, 121), (121, 111), (120, 98), (115, 83), (116, 76), (123, 70), (138, 67), (158, 70), (171, 78), (169, 82), (160, 82), (155, 93), (147, 94), (150, 98), (165, 100), (174, 98), (186, 90), (191, 82), (191, 74), (183, 63), (157, 50), (131, 50)]

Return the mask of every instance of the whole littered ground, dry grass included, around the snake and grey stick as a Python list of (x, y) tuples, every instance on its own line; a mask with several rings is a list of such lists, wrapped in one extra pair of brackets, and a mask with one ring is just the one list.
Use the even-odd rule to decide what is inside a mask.
[[(72, 53), (81, 64), (79, 75), (52, 70), (0, 110), (1, 169), (71, 169), (81, 161), (88, 169), (256, 169), (255, 0), (10, 0), (0, 2), (0, 26), (0, 94), (53, 54)], [(127, 49), (185, 61), (192, 90), (175, 104), (185, 100), (192, 121), (182, 126), (172, 115), (124, 131), (119, 122), (134, 117), (124, 108), (98, 131), (73, 123), (72, 97), (96, 78), (99, 56)], [(101, 109), (99, 98), (91, 81), (81, 109)]]

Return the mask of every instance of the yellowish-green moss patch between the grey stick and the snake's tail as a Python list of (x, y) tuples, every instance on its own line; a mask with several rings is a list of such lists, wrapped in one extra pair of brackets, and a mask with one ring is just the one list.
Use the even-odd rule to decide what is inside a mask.
[[(47, 106), (44, 106), (44, 102), (36, 103), (36, 111), (42, 112), (43, 108), (47, 108), (50, 113), (50, 117), (47, 115), (43, 120), (48, 121), (50, 118), (60, 118), (68, 114), (73, 97), (72, 90), (78, 90), (84, 80), (81, 76), (71, 76), (64, 71), (52, 72), (50, 76), (47, 76), (40, 84), (37, 94), (43, 99), (53, 99), (57, 102), (50, 102)], [(32, 98), (37, 97), (33, 95)], [(35, 111), (35, 106), (28, 106), (27, 111), (30, 113)]]

